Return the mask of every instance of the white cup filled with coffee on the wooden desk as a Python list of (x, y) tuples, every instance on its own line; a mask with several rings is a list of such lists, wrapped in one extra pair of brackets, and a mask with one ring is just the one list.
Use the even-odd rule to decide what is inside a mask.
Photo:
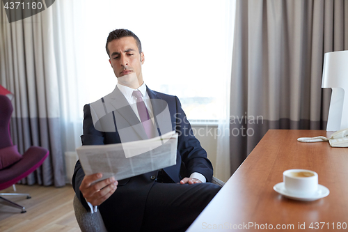
[(283, 172), (283, 182), (290, 194), (311, 195), (318, 189), (318, 174), (306, 169), (290, 169)]

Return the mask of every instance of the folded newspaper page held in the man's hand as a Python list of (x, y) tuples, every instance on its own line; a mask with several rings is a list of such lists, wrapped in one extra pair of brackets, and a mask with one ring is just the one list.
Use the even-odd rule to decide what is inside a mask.
[(175, 165), (177, 133), (122, 144), (84, 145), (76, 150), (86, 175), (102, 173), (100, 180), (111, 176), (122, 180)]

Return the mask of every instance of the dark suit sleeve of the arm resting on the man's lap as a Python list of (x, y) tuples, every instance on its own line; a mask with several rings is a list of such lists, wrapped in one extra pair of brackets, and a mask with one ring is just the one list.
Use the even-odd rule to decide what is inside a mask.
[(180, 100), (175, 96), (176, 103), (176, 128), (179, 134), (177, 141), (177, 150), (182, 157), (187, 169), (187, 176), (193, 172), (201, 173), (207, 179), (207, 182), (212, 182), (213, 167), (212, 163), (207, 159), (207, 152), (200, 146), (200, 142), (193, 134), (191, 125), (187, 121), (186, 114), (181, 107)]

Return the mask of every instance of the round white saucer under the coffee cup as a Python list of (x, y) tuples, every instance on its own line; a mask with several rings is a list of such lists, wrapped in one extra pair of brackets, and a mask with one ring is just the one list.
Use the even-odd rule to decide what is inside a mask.
[(308, 196), (308, 195), (301, 195), (301, 194), (290, 194), (287, 192), (285, 189), (285, 184), (278, 183), (274, 185), (273, 189), (278, 192), (278, 194), (282, 194), (283, 196), (286, 196), (287, 198), (298, 200), (298, 201), (315, 201), (317, 199), (321, 199), (327, 195), (329, 195), (330, 190), (323, 186), (323, 185), (318, 185), (318, 190), (314, 194)]

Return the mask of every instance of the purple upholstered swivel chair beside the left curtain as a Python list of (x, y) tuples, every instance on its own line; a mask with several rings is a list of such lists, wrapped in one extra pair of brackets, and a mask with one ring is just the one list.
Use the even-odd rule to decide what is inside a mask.
[[(0, 95), (0, 190), (15, 185), (35, 171), (49, 155), (49, 151), (38, 146), (31, 146), (24, 155), (20, 155), (17, 146), (14, 146), (10, 137), (10, 117), (13, 107), (5, 95)], [(9, 203), (9, 206), (22, 209), (23, 206), (3, 198), (3, 196), (19, 195), (30, 198), (29, 194), (0, 193), (0, 199)]]

